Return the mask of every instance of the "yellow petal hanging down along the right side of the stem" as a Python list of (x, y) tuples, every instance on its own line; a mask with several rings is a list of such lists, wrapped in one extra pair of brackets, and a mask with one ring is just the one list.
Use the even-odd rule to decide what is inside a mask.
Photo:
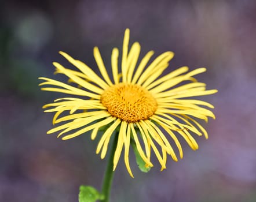
[(122, 121), (120, 130), (119, 130), (119, 134), (118, 134), (118, 144), (116, 145), (116, 151), (114, 154), (113, 170), (115, 170), (116, 166), (118, 165), (118, 161), (119, 161), (119, 158), (120, 158), (120, 155), (122, 152), (122, 148), (123, 148), (123, 144), (124, 144), (123, 133), (126, 133), (126, 129), (127, 129), (127, 122)]

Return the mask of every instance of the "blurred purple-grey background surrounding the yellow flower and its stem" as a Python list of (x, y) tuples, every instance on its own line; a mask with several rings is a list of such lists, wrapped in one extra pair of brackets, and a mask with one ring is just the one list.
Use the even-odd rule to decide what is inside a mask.
[[(63, 95), (41, 92), (38, 77), (54, 76), (53, 61), (72, 66), (62, 50), (96, 70), (93, 47), (111, 65), (125, 28), (142, 54), (174, 51), (168, 71), (207, 67), (196, 78), (218, 89), (200, 98), (214, 104), (216, 120), (196, 137), (194, 152), (167, 160), (135, 178), (120, 160), (113, 202), (256, 201), (256, 2), (251, 1), (3, 1), (0, 6), (0, 201), (78, 201), (79, 185), (101, 187), (106, 160), (89, 135), (62, 141), (43, 104)], [(66, 81), (67, 78), (62, 78)]]

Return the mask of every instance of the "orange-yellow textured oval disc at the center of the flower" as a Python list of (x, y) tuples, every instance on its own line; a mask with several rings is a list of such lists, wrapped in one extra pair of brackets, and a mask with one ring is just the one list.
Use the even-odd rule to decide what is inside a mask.
[(127, 122), (148, 119), (155, 113), (158, 103), (147, 89), (140, 85), (116, 84), (101, 95), (101, 103), (108, 112)]

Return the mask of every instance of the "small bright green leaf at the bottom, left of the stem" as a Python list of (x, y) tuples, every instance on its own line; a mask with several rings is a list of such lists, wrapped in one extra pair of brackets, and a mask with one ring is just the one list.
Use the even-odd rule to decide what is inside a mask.
[(93, 186), (81, 185), (78, 195), (79, 202), (96, 202), (97, 200), (103, 200), (103, 194), (100, 194)]

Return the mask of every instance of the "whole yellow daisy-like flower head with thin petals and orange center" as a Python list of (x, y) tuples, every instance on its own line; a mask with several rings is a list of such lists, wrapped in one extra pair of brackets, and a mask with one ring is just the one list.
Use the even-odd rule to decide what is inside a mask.
[[(183, 156), (177, 135), (184, 138), (193, 150), (198, 149), (198, 144), (191, 133), (198, 136), (204, 134), (206, 139), (208, 135), (195, 118), (204, 121), (207, 121), (207, 117), (215, 118), (210, 110), (204, 108), (205, 106), (214, 107), (207, 102), (188, 98), (210, 95), (217, 90), (206, 90), (206, 84), (199, 83), (193, 77), (205, 72), (206, 68), (188, 72), (188, 67), (183, 66), (161, 77), (174, 56), (173, 52), (159, 55), (148, 65), (153, 55), (153, 51), (149, 51), (138, 63), (141, 47), (138, 42), (135, 42), (129, 50), (129, 33), (129, 29), (126, 29), (120, 69), (118, 68), (119, 50), (118, 48), (112, 50), (112, 79), (107, 73), (98, 47), (94, 47), (94, 58), (102, 77), (85, 63), (60, 52), (79, 71), (66, 69), (60, 63), (53, 62), (56, 73), (65, 74), (79, 87), (45, 77), (39, 78), (45, 80), (39, 85), (53, 86), (44, 87), (43, 91), (80, 96), (80, 98), (57, 99), (54, 103), (43, 106), (43, 108), (53, 107), (45, 110), (45, 112), (55, 113), (53, 125), (64, 122), (47, 133), (62, 130), (58, 137), (65, 134), (62, 139), (67, 140), (92, 130), (91, 137), (94, 140), (98, 130), (107, 126), (96, 149), (97, 154), (101, 151), (103, 159), (107, 153), (109, 140), (117, 131), (118, 144), (114, 155), (114, 170), (124, 148), (125, 164), (133, 177), (129, 165), (130, 141), (134, 141), (146, 167), (153, 166), (152, 149), (162, 170), (166, 168), (167, 154), (173, 160), (178, 160), (170, 141), (178, 148), (180, 158)], [(70, 114), (60, 117), (64, 111), (69, 111)]]

